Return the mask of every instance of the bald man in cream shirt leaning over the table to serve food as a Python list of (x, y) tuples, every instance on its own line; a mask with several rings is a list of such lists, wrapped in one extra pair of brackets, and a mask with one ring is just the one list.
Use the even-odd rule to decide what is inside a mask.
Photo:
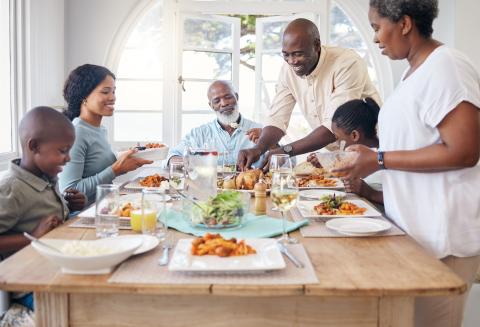
[[(322, 46), (315, 24), (296, 19), (283, 34), (285, 60), (277, 83), (276, 95), (255, 147), (238, 155), (240, 169), (250, 167), (285, 135), (295, 104), (313, 131), (293, 143), (269, 151), (290, 156), (307, 153), (335, 141), (331, 118), (343, 103), (370, 97), (381, 104), (368, 76), (366, 63), (354, 50)], [(266, 162), (265, 162), (266, 163)]]

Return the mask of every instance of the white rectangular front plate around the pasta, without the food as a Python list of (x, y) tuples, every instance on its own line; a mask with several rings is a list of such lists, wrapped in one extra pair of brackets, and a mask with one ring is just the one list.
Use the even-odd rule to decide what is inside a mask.
[(193, 239), (181, 239), (175, 247), (168, 270), (195, 272), (256, 272), (286, 267), (277, 241), (271, 238), (246, 239), (257, 253), (222, 258), (216, 255), (196, 256), (190, 253)]

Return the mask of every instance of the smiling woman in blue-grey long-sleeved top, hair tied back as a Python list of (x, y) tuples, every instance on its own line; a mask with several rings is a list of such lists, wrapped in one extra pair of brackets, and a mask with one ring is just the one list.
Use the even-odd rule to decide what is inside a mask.
[(115, 75), (105, 67), (85, 64), (67, 78), (63, 97), (68, 104), (65, 115), (75, 126), (76, 139), (71, 160), (60, 174), (60, 188), (78, 189), (95, 201), (98, 184), (110, 184), (121, 174), (137, 169), (149, 160), (134, 158), (134, 150), (118, 159), (107, 141), (103, 117), (112, 116), (115, 105)]

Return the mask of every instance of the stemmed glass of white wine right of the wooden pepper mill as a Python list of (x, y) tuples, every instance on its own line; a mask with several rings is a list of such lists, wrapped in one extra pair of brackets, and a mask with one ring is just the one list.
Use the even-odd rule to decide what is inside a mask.
[(290, 172), (274, 172), (272, 174), (272, 203), (277, 210), (282, 213), (282, 237), (278, 239), (282, 243), (295, 244), (297, 239), (289, 237), (287, 234), (287, 218), (286, 213), (293, 208), (298, 199), (298, 187), (293, 173)]

